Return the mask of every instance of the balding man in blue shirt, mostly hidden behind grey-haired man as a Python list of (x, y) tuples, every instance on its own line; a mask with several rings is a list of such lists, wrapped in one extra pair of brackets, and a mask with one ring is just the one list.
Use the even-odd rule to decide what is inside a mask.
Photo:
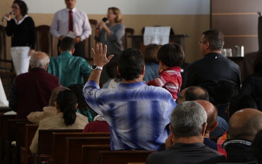
[[(191, 86), (187, 88), (185, 92), (185, 101), (195, 101), (195, 100), (206, 100), (209, 101), (209, 94), (207, 90), (201, 87)], [(210, 137), (222, 136), (226, 130), (228, 130), (228, 123), (221, 117), (217, 117), (218, 121), (217, 127), (213, 132), (210, 133)]]

